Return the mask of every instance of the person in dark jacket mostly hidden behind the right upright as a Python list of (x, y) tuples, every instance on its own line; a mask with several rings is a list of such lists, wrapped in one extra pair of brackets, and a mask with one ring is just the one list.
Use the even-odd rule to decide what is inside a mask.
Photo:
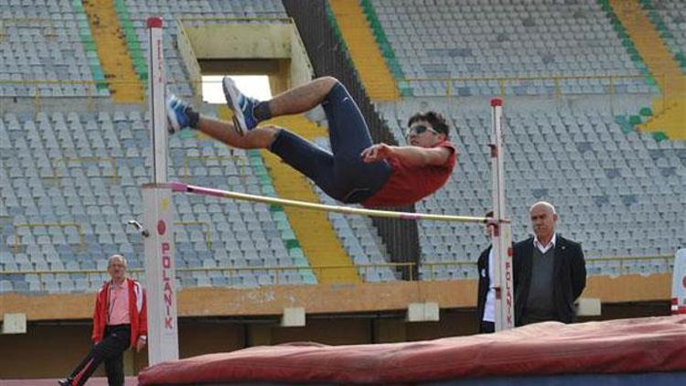
[[(485, 217), (493, 217), (493, 211), (486, 213)], [(484, 227), (484, 232), (490, 238), (488, 226)], [(477, 323), (479, 334), (491, 333), (496, 331), (496, 291), (492, 288), (490, 280), (493, 274), (493, 255), (491, 254), (492, 245), (488, 245), (478, 256), (478, 295), (477, 295)]]

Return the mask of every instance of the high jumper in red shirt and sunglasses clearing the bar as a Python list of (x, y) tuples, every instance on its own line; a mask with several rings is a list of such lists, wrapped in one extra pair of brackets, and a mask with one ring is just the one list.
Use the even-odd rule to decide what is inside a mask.
[[(268, 149), (338, 201), (367, 208), (413, 204), (443, 187), (455, 167), (456, 148), (448, 141), (448, 123), (440, 113), (415, 113), (409, 119), (409, 145), (373, 145), (358, 105), (335, 78), (312, 80), (264, 102), (243, 95), (229, 77), (222, 86), (232, 123), (201, 116), (171, 95), (166, 101), (169, 132), (190, 127), (233, 147)], [(282, 127), (257, 127), (320, 103), (327, 114), (331, 153)]]

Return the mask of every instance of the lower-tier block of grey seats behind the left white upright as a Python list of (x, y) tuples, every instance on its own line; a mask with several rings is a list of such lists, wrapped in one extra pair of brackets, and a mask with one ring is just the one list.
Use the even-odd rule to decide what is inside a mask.
[[(143, 266), (142, 241), (125, 223), (141, 218), (139, 186), (149, 180), (144, 113), (41, 112), (35, 119), (7, 113), (0, 119), (0, 138), (5, 147), (0, 208), (6, 213), (0, 234), (3, 251), (12, 251), (3, 254), (3, 271), (102, 270), (104, 259), (115, 252), (128, 256), (131, 268)], [(171, 178), (269, 193), (254, 172), (261, 160), (244, 151), (196, 138), (172, 137), (169, 145)], [(316, 283), (307, 269), (268, 270), (307, 266), (302, 252), (285, 246), (281, 236), (290, 231), (287, 221), (268, 207), (184, 195), (175, 195), (174, 202), (177, 267), (265, 268), (220, 276), (220, 271), (195, 272), (180, 276), (182, 286)], [(235, 277), (225, 281), (225, 273)], [(87, 283), (74, 274), (42, 274), (21, 288), (83, 291), (102, 278)]]

